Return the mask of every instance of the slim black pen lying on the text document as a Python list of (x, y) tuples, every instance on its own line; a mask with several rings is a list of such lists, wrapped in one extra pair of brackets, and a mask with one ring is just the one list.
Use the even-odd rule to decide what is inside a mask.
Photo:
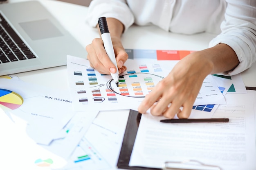
[(204, 123), (204, 122), (229, 122), (229, 118), (209, 118), (209, 119), (164, 119), (164, 123)]

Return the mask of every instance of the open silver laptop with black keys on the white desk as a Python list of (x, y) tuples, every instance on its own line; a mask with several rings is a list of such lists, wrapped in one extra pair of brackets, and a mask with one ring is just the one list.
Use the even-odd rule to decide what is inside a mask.
[(0, 75), (66, 65), (67, 55), (87, 52), (40, 2), (0, 4)]

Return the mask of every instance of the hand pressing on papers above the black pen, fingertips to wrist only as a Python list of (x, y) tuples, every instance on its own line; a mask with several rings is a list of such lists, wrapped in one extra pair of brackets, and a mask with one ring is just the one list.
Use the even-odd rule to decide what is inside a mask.
[(211, 70), (210, 65), (197, 65), (194, 55), (192, 53), (178, 62), (168, 76), (146, 95), (138, 108), (140, 113), (150, 108), (151, 114), (155, 116), (163, 115), (171, 119), (177, 114), (179, 118), (189, 117), (202, 82)]

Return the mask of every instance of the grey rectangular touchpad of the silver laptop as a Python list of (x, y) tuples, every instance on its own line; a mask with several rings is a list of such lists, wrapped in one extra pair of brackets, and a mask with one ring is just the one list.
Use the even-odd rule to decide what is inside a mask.
[(19, 23), (32, 40), (63, 36), (50, 20)]

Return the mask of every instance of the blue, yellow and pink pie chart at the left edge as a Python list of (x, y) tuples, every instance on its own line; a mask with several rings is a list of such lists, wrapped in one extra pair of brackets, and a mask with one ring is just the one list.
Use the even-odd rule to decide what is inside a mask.
[(17, 109), (23, 103), (23, 98), (10, 90), (0, 89), (0, 107), (7, 107), (11, 110)]

